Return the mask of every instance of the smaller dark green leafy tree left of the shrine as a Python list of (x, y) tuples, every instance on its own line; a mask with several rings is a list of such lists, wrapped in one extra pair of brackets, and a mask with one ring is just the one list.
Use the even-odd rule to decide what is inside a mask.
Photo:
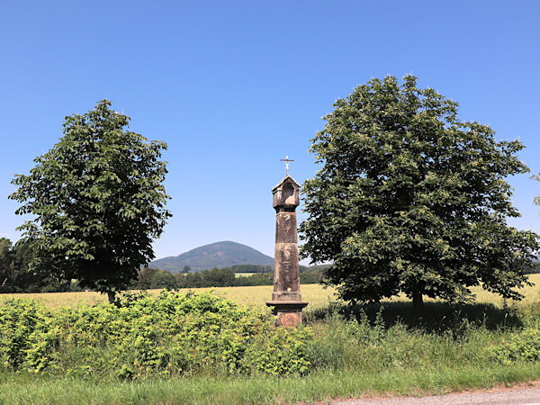
[(32, 240), (34, 268), (76, 279), (109, 300), (154, 258), (157, 238), (171, 216), (162, 185), (166, 143), (126, 130), (130, 118), (111, 102), (66, 117), (64, 136), (34, 159), (30, 175), (16, 175), (10, 198), (32, 214), (19, 229)]

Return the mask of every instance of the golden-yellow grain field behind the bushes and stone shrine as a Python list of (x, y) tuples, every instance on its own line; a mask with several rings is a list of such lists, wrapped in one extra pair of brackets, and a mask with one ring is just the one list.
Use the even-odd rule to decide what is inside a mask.
[[(529, 280), (534, 284), (540, 284), (540, 275), (530, 275)], [(272, 297), (272, 285), (261, 285), (256, 287), (218, 287), (218, 288), (196, 288), (191, 291), (208, 291), (221, 294), (226, 298), (238, 302), (240, 305), (253, 305), (257, 308), (266, 308), (266, 301)], [(161, 290), (149, 290), (151, 294), (157, 294)], [(181, 290), (188, 292), (190, 290)], [(336, 295), (333, 288), (323, 288), (319, 284), (305, 284), (301, 287), (302, 300), (310, 302), (309, 309), (326, 306), (329, 301), (335, 301)], [(476, 294), (476, 302), (489, 302), (497, 306), (502, 306), (503, 300), (496, 294), (488, 293), (480, 287), (473, 288)], [(518, 305), (527, 305), (533, 302), (540, 302), (540, 288), (536, 285), (526, 287), (521, 290), (526, 298), (517, 302)], [(106, 296), (100, 293), (29, 293), (29, 294), (1, 294), (0, 304), (8, 298), (32, 298), (44, 302), (49, 308), (59, 308), (62, 306), (73, 306), (77, 303), (94, 304), (105, 302)], [(407, 300), (404, 296), (395, 298), (392, 301)], [(511, 304), (512, 302), (509, 302)]]

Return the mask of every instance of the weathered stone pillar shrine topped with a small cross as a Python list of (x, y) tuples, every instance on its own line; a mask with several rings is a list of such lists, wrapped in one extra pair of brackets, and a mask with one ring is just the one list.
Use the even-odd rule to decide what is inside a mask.
[(293, 328), (302, 323), (300, 271), (298, 263), (298, 238), (296, 230), (296, 207), (300, 204), (300, 184), (287, 175), (273, 189), (275, 208), (274, 293), (266, 305), (273, 307), (278, 319), (276, 324)]

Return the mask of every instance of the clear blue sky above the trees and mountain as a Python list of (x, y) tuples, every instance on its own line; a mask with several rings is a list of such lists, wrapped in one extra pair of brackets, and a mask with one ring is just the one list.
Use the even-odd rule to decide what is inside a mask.
[[(461, 103), (461, 119), (521, 139), (538, 173), (539, 19), (537, 1), (4, 2), (0, 236), (20, 237), (14, 175), (66, 115), (103, 98), (168, 144), (174, 217), (158, 258), (219, 240), (273, 256), (279, 159), (294, 159), (299, 183), (312, 177), (320, 117), (371, 77), (419, 76)], [(511, 224), (540, 232), (540, 183), (509, 181), (523, 214)]]

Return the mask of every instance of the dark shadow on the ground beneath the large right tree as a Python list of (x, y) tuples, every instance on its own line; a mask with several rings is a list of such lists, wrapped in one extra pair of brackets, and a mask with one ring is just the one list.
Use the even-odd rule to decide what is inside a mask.
[(448, 331), (460, 334), (461, 331), (472, 327), (488, 330), (523, 328), (522, 316), (517, 311), (498, 308), (490, 303), (476, 302), (426, 302), (425, 314), (421, 318), (414, 315), (410, 302), (382, 302), (354, 306), (331, 302), (328, 307), (311, 311), (306, 318), (312, 321), (324, 320), (332, 314), (339, 314), (346, 319), (360, 320), (364, 313), (372, 324), (379, 316), (386, 329), (401, 323), (408, 329), (421, 329), (435, 334)]

